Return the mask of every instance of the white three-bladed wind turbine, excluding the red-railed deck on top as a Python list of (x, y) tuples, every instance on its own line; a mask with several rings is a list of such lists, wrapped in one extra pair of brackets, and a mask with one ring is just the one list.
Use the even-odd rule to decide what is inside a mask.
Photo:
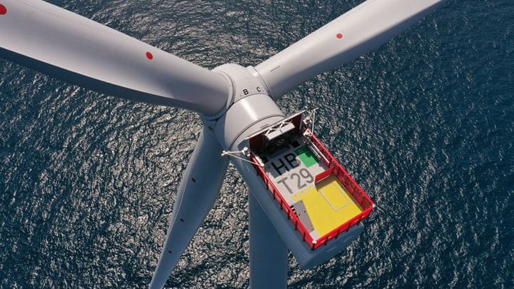
[[(200, 114), (203, 131), (178, 189), (151, 288), (165, 285), (206, 218), (229, 160), (250, 192), (251, 286), (284, 287), (288, 250), (303, 268), (310, 268), (346, 248), (363, 226), (358, 220), (342, 238), (327, 239), (320, 248), (316, 242), (306, 243), (298, 224), (288, 220), (293, 217), (284, 215), (268, 193), (251, 136), (278, 132), (276, 139), (285, 139), (288, 126), (300, 115), (286, 118), (276, 99), (376, 49), (443, 2), (364, 1), (255, 67), (224, 64), (208, 71), (44, 1), (0, 0), (0, 56), (93, 91)], [(303, 127), (314, 139), (308, 128), (311, 118), (300, 119), (291, 129)]]

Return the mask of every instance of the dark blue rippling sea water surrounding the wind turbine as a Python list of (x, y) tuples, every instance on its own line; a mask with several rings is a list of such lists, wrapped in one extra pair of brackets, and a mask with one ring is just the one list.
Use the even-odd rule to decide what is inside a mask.
[[(258, 64), (361, 1), (51, 2), (212, 69)], [(0, 288), (145, 287), (198, 117), (0, 69)], [(378, 204), (328, 263), (291, 258), (291, 288), (513, 288), (513, 69), (514, 2), (449, 1), (285, 96), (286, 113), (319, 108)], [(168, 286), (248, 286), (246, 198), (231, 167)]]

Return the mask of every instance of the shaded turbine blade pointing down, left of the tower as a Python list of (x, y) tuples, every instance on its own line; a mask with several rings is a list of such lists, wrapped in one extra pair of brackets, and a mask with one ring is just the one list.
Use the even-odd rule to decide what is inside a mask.
[(211, 131), (204, 128), (178, 188), (168, 235), (150, 288), (162, 288), (198, 227), (211, 211), (228, 167), (228, 158)]

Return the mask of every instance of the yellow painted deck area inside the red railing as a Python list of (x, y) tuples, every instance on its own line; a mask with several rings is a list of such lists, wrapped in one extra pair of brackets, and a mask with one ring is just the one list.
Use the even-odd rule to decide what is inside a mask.
[(363, 210), (341, 182), (330, 176), (293, 196), (293, 200), (303, 201), (314, 228), (320, 235), (346, 223)]

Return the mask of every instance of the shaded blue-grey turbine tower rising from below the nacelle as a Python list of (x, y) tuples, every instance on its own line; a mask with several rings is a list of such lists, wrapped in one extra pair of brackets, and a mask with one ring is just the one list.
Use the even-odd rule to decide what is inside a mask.
[(250, 288), (286, 288), (288, 248), (249, 188), (248, 203), (250, 208)]

